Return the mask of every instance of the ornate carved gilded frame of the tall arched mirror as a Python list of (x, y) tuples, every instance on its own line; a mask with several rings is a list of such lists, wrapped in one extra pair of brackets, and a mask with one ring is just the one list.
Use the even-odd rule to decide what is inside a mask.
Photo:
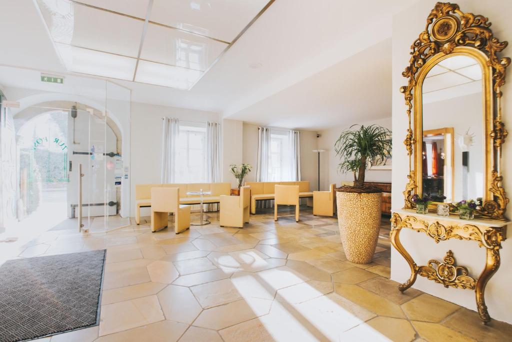
[[(402, 76), (409, 78), (409, 82), (407, 86), (400, 87), (409, 120), (403, 142), (409, 155), (408, 183), (403, 191), (404, 209), (415, 208), (412, 197), (422, 192), (422, 179), (417, 177), (416, 171), (421, 171), (423, 80), (442, 59), (465, 55), (476, 59), (482, 68), (485, 191), (483, 206), (475, 212), (475, 216), (506, 220), (509, 199), (502, 187), (501, 147), (508, 132), (501, 120), (501, 87), (505, 84), (505, 70), (510, 65), (510, 58), (497, 56), (508, 43), (494, 37), (489, 27), (488, 18), (482, 15), (464, 13), (457, 4), (437, 3), (426, 19), (425, 30), (411, 46), (409, 66), (402, 72)], [(451, 212), (457, 213), (457, 207), (452, 205)]]

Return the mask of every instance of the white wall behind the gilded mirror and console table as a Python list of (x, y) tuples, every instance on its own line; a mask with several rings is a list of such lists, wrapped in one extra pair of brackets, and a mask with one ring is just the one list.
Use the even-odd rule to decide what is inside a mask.
[[(463, 12), (482, 14), (489, 17), (493, 23), (492, 29), (495, 36), (503, 40), (510, 40), (512, 36), (512, 21), (509, 13), (512, 12), (512, 2), (499, 0), (488, 0), (484, 3), (478, 0), (459, 0), (458, 5)], [(399, 88), (407, 84), (407, 79), (401, 73), (408, 66), (411, 55), (409, 54), (411, 44), (423, 31), (426, 17), (434, 6), (432, 1), (421, 1), (414, 4), (406, 11), (400, 12), (393, 18), (393, 39), (392, 39), (392, 71), (393, 71), (393, 196), (392, 209), (398, 210), (403, 207), (402, 191), (407, 183), (409, 158), (403, 146), (403, 139), (407, 129), (406, 106), (404, 105), (403, 94)], [(404, 29), (406, 28), (406, 29)], [(507, 51), (508, 50), (508, 51)], [(510, 55), (510, 48), (505, 49), (502, 55)], [(510, 70), (508, 70), (510, 73)], [(508, 80), (508, 82), (510, 82)], [(512, 87), (506, 84), (503, 88), (503, 120), (505, 125), (510, 123), (512, 112)], [(510, 170), (512, 169), (512, 148), (510, 141), (503, 148), (503, 174), (505, 176), (504, 187), (510, 193)], [(508, 172), (507, 172), (508, 171)], [(425, 234), (419, 234), (412, 230), (402, 230), (401, 242), (413, 256), (418, 265), (426, 265), (428, 260), (436, 258), (442, 260), (446, 251), (451, 249), (459, 265), (468, 267), (470, 275), (478, 277), (483, 269), (485, 261), (485, 250), (478, 248), (476, 243), (449, 240), (435, 244)], [(506, 294), (510, 292), (512, 284), (512, 243), (509, 240), (502, 243), (501, 267), (494, 277), (487, 284), (485, 299), (491, 317), (512, 323), (512, 297)], [(403, 283), (409, 278), (410, 270), (406, 261), (395, 249), (391, 255), (391, 278)], [(426, 293), (453, 301), (454, 303), (476, 310), (475, 293), (468, 290), (445, 289), (433, 281), (418, 277), (414, 288)]]

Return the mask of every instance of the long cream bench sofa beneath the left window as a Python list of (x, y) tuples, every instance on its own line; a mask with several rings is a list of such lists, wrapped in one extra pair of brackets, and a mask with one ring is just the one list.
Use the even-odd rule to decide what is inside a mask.
[(231, 195), (230, 183), (190, 183), (190, 184), (136, 184), (135, 185), (135, 222), (140, 224), (140, 208), (151, 207), (151, 188), (178, 188), (180, 189), (180, 204), (200, 204), (200, 196), (189, 196), (187, 192), (211, 192), (203, 196), (203, 203), (220, 203), (221, 195)]

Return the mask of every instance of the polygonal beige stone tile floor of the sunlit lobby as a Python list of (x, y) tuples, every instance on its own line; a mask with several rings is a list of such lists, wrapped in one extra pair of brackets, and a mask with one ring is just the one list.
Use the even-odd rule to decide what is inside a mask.
[[(410, 289), (390, 276), (390, 225), (382, 219), (368, 265), (346, 260), (336, 218), (301, 220), (272, 209), (243, 229), (211, 224), (181, 234), (140, 226), (82, 236), (53, 231), (6, 259), (108, 250), (98, 327), (39, 341), (505, 341), (512, 326)], [(169, 219), (172, 221), (173, 217)], [(172, 226), (172, 222), (169, 222)]]

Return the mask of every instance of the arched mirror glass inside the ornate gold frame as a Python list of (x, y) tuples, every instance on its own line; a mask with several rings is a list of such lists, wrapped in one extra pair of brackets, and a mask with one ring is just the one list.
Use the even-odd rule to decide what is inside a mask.
[(485, 185), (482, 70), (470, 56), (436, 64), (422, 85), (423, 194), (434, 202), (483, 197)]

